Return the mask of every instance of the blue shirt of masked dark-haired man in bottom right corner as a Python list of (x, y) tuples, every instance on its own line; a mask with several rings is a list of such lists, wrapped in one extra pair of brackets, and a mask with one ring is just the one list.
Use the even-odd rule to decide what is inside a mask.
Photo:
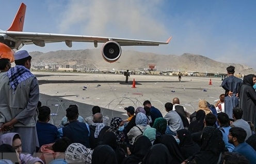
[(256, 152), (255, 150), (246, 142), (238, 144), (233, 152), (237, 152), (242, 154), (243, 156), (246, 157), (246, 159), (249, 160), (251, 164), (255, 163), (256, 161)]

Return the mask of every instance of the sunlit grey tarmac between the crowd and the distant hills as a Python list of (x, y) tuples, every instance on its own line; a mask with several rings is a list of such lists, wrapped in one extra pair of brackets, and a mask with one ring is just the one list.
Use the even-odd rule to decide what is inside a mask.
[[(122, 74), (66, 73), (66, 72), (32, 72), (39, 81), (42, 105), (51, 108), (50, 123), (59, 125), (70, 104), (78, 106), (79, 115), (83, 118), (92, 116), (93, 106), (100, 106), (103, 116), (126, 119), (124, 107), (143, 107), (149, 100), (163, 116), (165, 103), (174, 97), (180, 99), (190, 113), (198, 108), (201, 99), (215, 104), (219, 95), (225, 93), (221, 87), (220, 77), (195, 77), (165, 75), (131, 75), (125, 83)], [(211, 83), (210, 83), (211, 79)], [(133, 88), (133, 80), (135, 87)], [(212, 84), (212, 85), (210, 85)]]

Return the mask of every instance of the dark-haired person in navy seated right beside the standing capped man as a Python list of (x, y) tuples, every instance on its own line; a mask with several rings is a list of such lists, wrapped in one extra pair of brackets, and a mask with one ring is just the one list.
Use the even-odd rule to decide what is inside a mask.
[(39, 114), (36, 127), (39, 147), (41, 147), (44, 144), (53, 143), (56, 139), (58, 139), (58, 129), (55, 125), (48, 123), (51, 118), (51, 109), (49, 107), (41, 106), (38, 108), (38, 111)]

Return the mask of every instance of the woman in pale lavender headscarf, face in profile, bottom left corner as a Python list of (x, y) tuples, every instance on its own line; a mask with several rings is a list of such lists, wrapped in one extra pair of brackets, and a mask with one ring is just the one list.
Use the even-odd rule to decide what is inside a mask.
[(33, 157), (31, 154), (22, 154), (21, 147), (21, 136), (18, 133), (7, 133), (0, 136), (1, 144), (11, 145), (20, 155), (20, 160), (22, 163), (44, 163), (38, 157)]

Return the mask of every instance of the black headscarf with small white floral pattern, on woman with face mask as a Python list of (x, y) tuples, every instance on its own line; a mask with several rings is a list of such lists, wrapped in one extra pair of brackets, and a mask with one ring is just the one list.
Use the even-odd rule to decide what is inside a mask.
[(110, 121), (110, 130), (112, 130), (116, 137), (117, 137), (117, 142), (123, 142), (125, 139), (125, 134), (123, 132), (118, 131), (118, 126), (119, 124), (123, 121), (120, 117), (114, 117)]

